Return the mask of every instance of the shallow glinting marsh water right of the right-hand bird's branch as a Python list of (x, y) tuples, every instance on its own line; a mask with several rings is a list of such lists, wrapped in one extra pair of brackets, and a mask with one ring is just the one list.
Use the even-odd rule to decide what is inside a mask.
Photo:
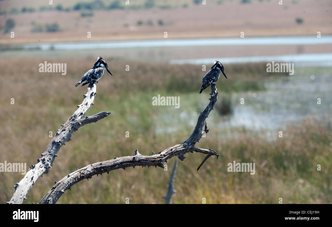
[[(293, 76), (266, 79), (266, 91), (234, 94), (234, 113), (220, 126), (245, 126), (252, 129), (286, 128), (290, 122), (306, 118), (332, 120), (332, 73), (330, 68), (313, 76), (311, 68), (297, 68)], [(256, 97), (255, 97), (256, 96)], [(244, 104), (240, 99), (244, 98)], [(320, 98), (321, 104), (317, 104)]]

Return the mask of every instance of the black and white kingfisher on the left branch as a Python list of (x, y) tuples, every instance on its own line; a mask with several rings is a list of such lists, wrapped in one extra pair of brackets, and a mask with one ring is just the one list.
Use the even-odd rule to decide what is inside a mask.
[[(103, 76), (104, 74), (104, 69), (107, 70), (107, 72), (109, 72), (111, 75), (112, 73), (110, 72), (110, 70), (108, 69), (107, 63), (106, 61), (104, 61), (104, 59), (99, 56), (97, 58), (97, 61), (95, 63), (95, 65), (89, 70), (87, 71), (84, 76), (82, 77), (81, 81), (78, 82), (75, 87), (77, 87), (78, 85), (80, 85), (81, 83), (82, 86), (88, 84), (88, 83), (98, 83), (98, 80)], [(112, 75), (113, 76), (113, 75)]]

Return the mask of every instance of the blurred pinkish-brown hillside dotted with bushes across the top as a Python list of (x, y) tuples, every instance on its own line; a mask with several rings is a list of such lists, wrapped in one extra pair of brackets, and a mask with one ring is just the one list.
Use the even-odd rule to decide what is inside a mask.
[(331, 11), (329, 0), (2, 0), (0, 41), (162, 39), (165, 31), (168, 38), (330, 35)]

